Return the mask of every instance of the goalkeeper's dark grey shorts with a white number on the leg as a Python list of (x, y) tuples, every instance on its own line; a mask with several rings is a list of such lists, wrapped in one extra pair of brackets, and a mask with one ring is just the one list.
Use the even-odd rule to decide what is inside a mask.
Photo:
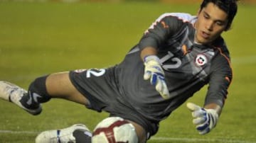
[(110, 113), (110, 116), (137, 122), (144, 127), (149, 139), (159, 129), (159, 122), (144, 118), (125, 98), (122, 98), (114, 69), (115, 67), (70, 71), (70, 80), (75, 88), (90, 101), (90, 106), (87, 108), (98, 112), (105, 110)]

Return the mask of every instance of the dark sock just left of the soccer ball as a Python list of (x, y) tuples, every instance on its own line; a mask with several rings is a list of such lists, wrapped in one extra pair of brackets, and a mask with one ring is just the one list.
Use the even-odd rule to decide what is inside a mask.
[(92, 139), (92, 132), (87, 130), (75, 130), (73, 132), (76, 143), (90, 143)]

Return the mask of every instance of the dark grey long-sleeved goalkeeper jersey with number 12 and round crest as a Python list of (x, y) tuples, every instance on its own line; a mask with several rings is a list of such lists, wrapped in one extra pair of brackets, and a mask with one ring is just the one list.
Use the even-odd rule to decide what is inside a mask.
[[(224, 104), (232, 79), (228, 49), (221, 37), (210, 45), (195, 43), (195, 22), (196, 17), (187, 13), (165, 13), (115, 69), (122, 100), (149, 120), (163, 120), (206, 84), (205, 103)], [(143, 79), (140, 51), (147, 46), (158, 51), (171, 95), (168, 100)]]

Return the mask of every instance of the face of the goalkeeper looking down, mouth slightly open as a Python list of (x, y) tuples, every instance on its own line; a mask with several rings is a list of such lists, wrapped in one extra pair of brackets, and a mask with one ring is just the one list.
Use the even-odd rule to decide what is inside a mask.
[(213, 3), (198, 12), (196, 21), (196, 42), (208, 44), (213, 42), (225, 30), (228, 24), (228, 14)]

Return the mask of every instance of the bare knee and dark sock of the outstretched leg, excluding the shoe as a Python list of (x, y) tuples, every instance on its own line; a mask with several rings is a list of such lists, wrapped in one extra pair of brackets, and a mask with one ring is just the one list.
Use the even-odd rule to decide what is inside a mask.
[(21, 103), (26, 107), (33, 107), (39, 103), (45, 103), (50, 98), (64, 98), (75, 103), (87, 105), (89, 102), (73, 86), (68, 72), (61, 72), (42, 76), (31, 83), (28, 96), (24, 96)]

